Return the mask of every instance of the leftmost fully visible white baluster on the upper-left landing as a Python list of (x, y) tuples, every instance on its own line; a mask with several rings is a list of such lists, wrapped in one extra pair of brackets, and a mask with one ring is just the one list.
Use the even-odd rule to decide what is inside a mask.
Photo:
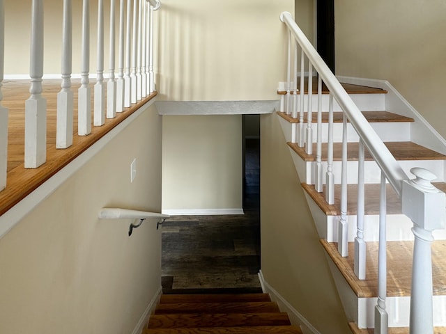
[(43, 0), (33, 0), (31, 19), (31, 96), (25, 102), (25, 168), (47, 159), (47, 101), (42, 96)]

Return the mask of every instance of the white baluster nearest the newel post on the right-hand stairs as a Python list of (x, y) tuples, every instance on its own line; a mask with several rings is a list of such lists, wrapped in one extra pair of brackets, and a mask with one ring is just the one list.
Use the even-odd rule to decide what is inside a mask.
[(387, 296), (387, 237), (385, 233), (387, 225), (386, 200), (387, 194), (385, 192), (385, 175), (381, 171), (381, 186), (379, 198), (378, 301), (375, 305), (375, 334), (387, 334), (387, 328), (389, 326), (389, 316), (387, 314), (387, 311), (385, 310), (385, 299)]

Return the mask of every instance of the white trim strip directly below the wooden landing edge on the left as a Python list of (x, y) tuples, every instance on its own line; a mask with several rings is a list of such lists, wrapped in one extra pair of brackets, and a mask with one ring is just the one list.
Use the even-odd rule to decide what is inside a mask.
[(100, 138), (99, 141), (91, 145), (91, 147), (79, 155), (76, 159), (70, 162), (67, 166), (59, 170), (58, 173), (49, 178), (36, 190), (26, 196), (23, 200), (18, 202), (14, 207), (9, 209), (0, 216), (0, 239), (8, 233), (17, 223), (19, 223), (24, 216), (29, 214), (35, 207), (37, 207), (43, 200), (51, 195), (63, 182), (77, 172), (86, 162), (92, 159), (95, 154), (98, 154), (102, 148), (105, 147), (114, 137), (128, 127), (141, 113), (146, 111), (156, 100), (156, 97), (141, 106), (141, 108), (134, 111), (132, 115), (125, 118), (120, 124), (112, 129), (108, 134)]

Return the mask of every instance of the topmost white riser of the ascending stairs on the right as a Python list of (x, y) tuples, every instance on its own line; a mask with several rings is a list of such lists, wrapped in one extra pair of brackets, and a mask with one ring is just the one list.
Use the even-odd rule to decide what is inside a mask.
[[(286, 95), (281, 95), (282, 101), (281, 106), (286, 107)], [(360, 111), (385, 111), (385, 94), (350, 94), (351, 100), (355, 102), (356, 106)], [(294, 97), (290, 95), (291, 112), (293, 111)], [(322, 111), (328, 111), (329, 107), (329, 95), (322, 95)], [(298, 112), (300, 111), (300, 95), (296, 97), (296, 102), (298, 104)], [(304, 95), (304, 111), (308, 110), (308, 95)], [(284, 111), (284, 109), (282, 109)], [(312, 95), (312, 111), (318, 111), (318, 96)], [(333, 111), (342, 111), (339, 104), (334, 100)]]

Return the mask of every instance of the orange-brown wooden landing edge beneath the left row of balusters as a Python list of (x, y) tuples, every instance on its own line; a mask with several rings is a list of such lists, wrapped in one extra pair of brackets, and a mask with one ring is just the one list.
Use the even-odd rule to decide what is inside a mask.
[[(123, 120), (132, 115), (141, 106), (152, 100), (157, 95), (156, 92), (148, 97), (133, 104), (122, 113), (116, 113), (115, 118), (107, 118), (102, 127), (92, 127), (91, 134), (88, 136), (73, 136), (73, 143), (70, 148), (59, 150), (56, 145), (47, 148), (47, 162), (39, 168), (24, 168), (24, 164), (13, 168), (7, 175), (6, 189), (0, 191), (0, 216), (10, 208), (28, 196), (38, 186), (49, 180), (54, 174), (59, 172), (71, 161), (79, 157), (84, 151), (90, 148), (94, 143), (108, 134), (112, 129), (119, 125)], [(11, 181), (12, 180), (12, 181)]]

